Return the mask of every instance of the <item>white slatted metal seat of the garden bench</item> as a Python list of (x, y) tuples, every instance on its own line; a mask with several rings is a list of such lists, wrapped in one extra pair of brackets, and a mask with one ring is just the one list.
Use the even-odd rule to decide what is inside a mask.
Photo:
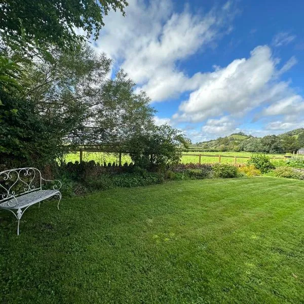
[[(2, 204), (0, 204), (0, 207), (8, 208), (8, 209), (24, 208), (59, 194), (60, 192), (58, 190), (33, 191), (27, 194), (23, 194), (19, 197), (16, 197), (16, 199), (5, 201)], [(17, 205), (16, 205), (16, 200), (17, 200)]]

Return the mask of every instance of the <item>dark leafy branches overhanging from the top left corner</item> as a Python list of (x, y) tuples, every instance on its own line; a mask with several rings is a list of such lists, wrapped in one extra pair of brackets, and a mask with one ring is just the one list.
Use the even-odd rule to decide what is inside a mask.
[(126, 0), (4, 1), (0, 6), (0, 34), (7, 47), (27, 54), (41, 48), (74, 49), (92, 35), (97, 40), (103, 17), (110, 9), (125, 15), (127, 5)]

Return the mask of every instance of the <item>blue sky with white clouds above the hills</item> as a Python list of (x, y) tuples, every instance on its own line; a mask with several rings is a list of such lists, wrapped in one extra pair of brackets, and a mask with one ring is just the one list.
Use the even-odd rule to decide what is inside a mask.
[(92, 46), (192, 142), (304, 127), (304, 1), (129, 0)]

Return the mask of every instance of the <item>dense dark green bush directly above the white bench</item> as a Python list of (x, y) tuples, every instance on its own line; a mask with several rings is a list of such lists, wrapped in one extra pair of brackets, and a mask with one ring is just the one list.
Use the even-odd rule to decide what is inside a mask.
[(7, 166), (42, 167), (63, 151), (61, 138), (49, 128), (34, 104), (0, 87), (0, 162)]

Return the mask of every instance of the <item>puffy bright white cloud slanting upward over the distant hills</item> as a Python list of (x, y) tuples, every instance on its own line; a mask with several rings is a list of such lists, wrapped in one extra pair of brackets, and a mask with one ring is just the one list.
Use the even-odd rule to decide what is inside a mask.
[(249, 59), (236, 59), (226, 67), (204, 75), (200, 88), (180, 105), (180, 113), (174, 119), (199, 122), (225, 112), (236, 115), (262, 102), (257, 94), (265, 94), (269, 89), (266, 85), (273, 77), (275, 63), (267, 46), (259, 46), (250, 54)]

